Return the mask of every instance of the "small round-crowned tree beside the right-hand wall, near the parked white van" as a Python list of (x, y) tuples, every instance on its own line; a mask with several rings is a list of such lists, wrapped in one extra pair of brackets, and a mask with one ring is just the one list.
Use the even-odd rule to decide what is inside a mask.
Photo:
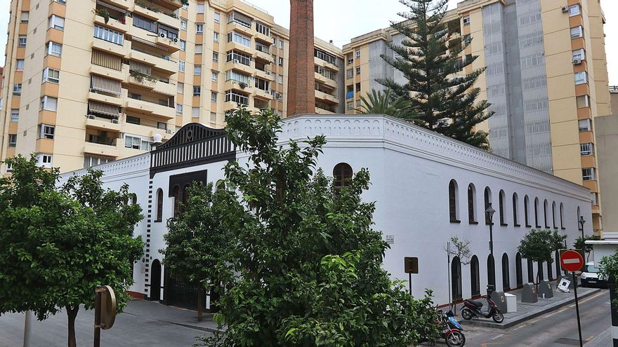
[[(525, 259), (534, 262), (553, 263), (552, 254), (556, 250), (561, 250), (567, 236), (560, 236), (558, 231), (535, 230), (532, 229), (520, 241), (517, 250)], [(539, 289), (539, 271), (537, 271), (537, 290)]]

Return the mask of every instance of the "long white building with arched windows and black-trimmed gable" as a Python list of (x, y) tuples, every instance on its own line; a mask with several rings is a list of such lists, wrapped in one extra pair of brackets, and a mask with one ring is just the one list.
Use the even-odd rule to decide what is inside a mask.
[[(492, 277), (487, 275), (487, 203), (497, 211), (493, 217), (497, 290), (532, 281), (530, 266), (536, 275), (538, 264), (520, 259), (517, 252), (527, 231), (555, 229), (572, 244), (579, 234), (578, 216), (591, 220), (590, 193), (585, 187), (395, 118), (301, 115), (285, 119), (282, 128), (282, 142), (326, 135), (318, 165), (327, 175), (339, 164), (336, 175), (345, 172), (340, 169), (346, 165), (352, 172), (369, 169), (372, 185), (363, 198), (376, 201), (375, 229), (392, 241), (385, 268), (394, 278), (407, 280), (404, 257), (419, 257), (419, 274), (412, 278), (414, 295), (420, 297), (425, 288), (431, 288), (439, 304), (448, 301), (450, 272), (454, 273), (454, 297), (486, 292)], [(165, 221), (173, 214), (174, 201), (182, 200), (185, 185), (222, 179), (223, 166), (234, 159), (246, 161), (246, 154), (235, 151), (223, 130), (192, 123), (150, 154), (97, 167), (105, 173), (106, 186), (118, 189), (129, 184), (144, 210), (136, 235), (145, 241), (145, 257), (134, 266), (133, 294), (195, 305), (195, 295), (186, 283), (162, 268), (159, 249), (164, 247)], [(63, 179), (69, 175), (72, 172)], [(448, 264), (444, 250), (452, 236), (471, 240), (474, 254), (459, 279), (457, 271), (449, 271), (459, 266), (458, 259)], [(541, 268), (544, 278), (558, 273), (555, 262)]]

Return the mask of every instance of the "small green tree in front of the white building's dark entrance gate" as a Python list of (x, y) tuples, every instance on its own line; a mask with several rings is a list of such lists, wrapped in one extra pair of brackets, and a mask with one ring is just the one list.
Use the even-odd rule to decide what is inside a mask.
[(204, 289), (217, 290), (218, 270), (228, 259), (232, 238), (221, 220), (221, 192), (213, 192), (212, 183), (194, 182), (188, 194), (178, 218), (167, 222), (168, 233), (163, 236), (167, 247), (160, 252), (166, 271), (197, 285), (197, 320), (201, 322)]

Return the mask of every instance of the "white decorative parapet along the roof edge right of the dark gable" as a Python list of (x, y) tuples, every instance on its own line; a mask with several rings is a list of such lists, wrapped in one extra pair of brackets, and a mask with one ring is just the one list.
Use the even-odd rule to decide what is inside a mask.
[(304, 140), (325, 135), (329, 141), (384, 142), (404, 147), (415, 156), (440, 161), (503, 179), (545, 186), (589, 200), (589, 189), (453, 140), (437, 132), (384, 115), (299, 115), (285, 118), (281, 139)]

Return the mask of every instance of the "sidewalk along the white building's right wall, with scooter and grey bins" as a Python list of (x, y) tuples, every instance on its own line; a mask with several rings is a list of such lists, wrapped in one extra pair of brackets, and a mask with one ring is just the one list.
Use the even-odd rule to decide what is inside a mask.
[[(555, 283), (552, 283), (552, 288), (555, 288)], [(579, 300), (584, 299), (585, 297), (589, 297), (593, 294), (600, 292), (598, 288), (577, 288), (577, 297)], [(555, 311), (560, 307), (566, 306), (568, 304), (572, 304), (575, 302), (575, 296), (573, 290), (570, 293), (563, 293), (554, 290), (553, 298), (551, 299), (541, 299), (539, 298), (539, 302), (534, 304), (522, 303), (521, 302), (521, 294), (522, 290), (513, 290), (512, 292), (508, 292), (508, 294), (513, 294), (517, 297), (517, 312), (508, 312), (504, 313), (504, 322), (497, 323), (494, 322), (491, 318), (473, 318), (472, 320), (459, 320), (459, 322), (464, 325), (479, 325), (482, 327), (493, 327), (498, 329), (506, 329), (508, 327), (513, 327), (513, 325), (518, 325), (521, 322), (525, 322), (526, 320), (530, 320), (532, 318), (538, 317), (539, 315), (544, 315), (545, 313), (549, 313), (551, 311)], [(479, 299), (484, 306), (484, 309), (487, 309), (487, 301), (485, 299)], [(461, 308), (461, 304), (459, 308)], [(457, 312), (460, 314), (460, 312)]]

